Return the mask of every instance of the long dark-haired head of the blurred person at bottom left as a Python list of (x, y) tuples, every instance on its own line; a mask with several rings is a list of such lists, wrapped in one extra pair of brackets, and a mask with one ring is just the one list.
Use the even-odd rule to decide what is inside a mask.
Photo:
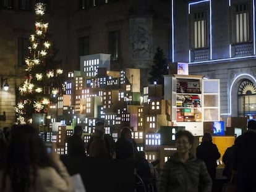
[[(4, 156), (4, 171), (11, 178), (13, 191), (26, 191), (26, 188), (35, 186), (38, 167), (58, 170), (38, 131), (31, 125), (14, 125)], [(5, 179), (6, 175), (0, 181), (2, 188), (5, 187)]]

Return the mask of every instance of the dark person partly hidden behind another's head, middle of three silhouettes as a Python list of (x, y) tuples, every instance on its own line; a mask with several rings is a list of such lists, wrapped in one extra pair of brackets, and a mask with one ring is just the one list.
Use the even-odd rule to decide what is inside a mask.
[[(108, 149), (109, 153), (109, 158), (114, 159), (116, 158), (116, 151), (115, 151), (115, 143), (114, 143), (114, 138), (111, 135), (105, 134), (105, 126), (103, 121), (98, 121), (96, 122), (95, 125), (95, 132), (96, 131), (101, 131), (103, 133), (103, 139), (106, 144), (106, 147)], [(87, 154), (90, 156), (90, 144), (93, 141), (94, 134), (90, 138), (87, 144)]]

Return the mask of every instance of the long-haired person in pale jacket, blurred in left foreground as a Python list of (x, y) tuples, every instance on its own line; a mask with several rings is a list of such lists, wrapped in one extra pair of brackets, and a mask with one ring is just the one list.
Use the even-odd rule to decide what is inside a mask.
[(66, 167), (53, 150), (48, 153), (38, 131), (14, 125), (0, 169), (0, 191), (75, 191)]

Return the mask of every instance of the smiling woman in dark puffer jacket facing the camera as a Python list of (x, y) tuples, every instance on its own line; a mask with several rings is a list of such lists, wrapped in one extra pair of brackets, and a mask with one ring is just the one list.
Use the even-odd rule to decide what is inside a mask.
[(193, 143), (189, 131), (176, 133), (177, 152), (161, 170), (158, 192), (211, 192), (212, 181), (205, 163), (190, 153)]

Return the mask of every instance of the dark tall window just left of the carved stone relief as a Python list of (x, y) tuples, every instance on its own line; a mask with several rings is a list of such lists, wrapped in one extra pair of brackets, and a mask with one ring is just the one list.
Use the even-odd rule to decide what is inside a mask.
[(118, 61), (120, 58), (120, 31), (109, 32), (109, 54), (111, 54), (111, 61)]

